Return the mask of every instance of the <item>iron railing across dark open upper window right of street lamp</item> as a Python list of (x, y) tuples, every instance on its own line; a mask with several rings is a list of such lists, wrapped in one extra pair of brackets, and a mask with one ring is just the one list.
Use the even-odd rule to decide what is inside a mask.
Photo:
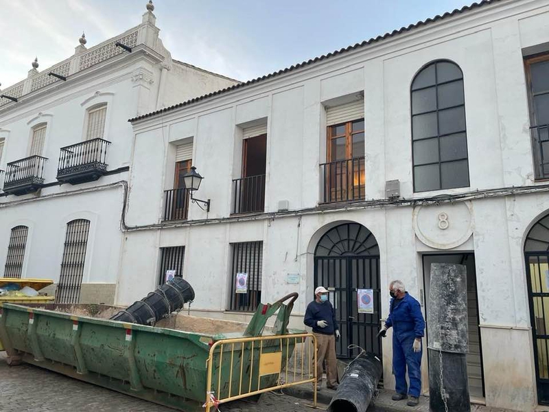
[(265, 210), (265, 174), (233, 179), (233, 214)]

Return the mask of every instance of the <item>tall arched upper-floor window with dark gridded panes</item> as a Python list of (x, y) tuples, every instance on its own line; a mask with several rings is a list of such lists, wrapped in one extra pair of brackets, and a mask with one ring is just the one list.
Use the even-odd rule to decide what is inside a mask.
[(469, 186), (461, 69), (432, 62), (417, 73), (411, 93), (414, 192)]

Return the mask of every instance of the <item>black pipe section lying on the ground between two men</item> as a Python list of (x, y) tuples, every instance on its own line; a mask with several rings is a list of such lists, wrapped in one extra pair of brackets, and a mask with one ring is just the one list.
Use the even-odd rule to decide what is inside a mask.
[(383, 373), (375, 354), (362, 352), (347, 365), (328, 412), (366, 412)]

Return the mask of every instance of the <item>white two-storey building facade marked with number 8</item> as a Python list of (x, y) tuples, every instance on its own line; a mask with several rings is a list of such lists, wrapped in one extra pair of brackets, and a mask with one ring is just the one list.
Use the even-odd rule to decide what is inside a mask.
[[(549, 401), (548, 52), (548, 1), (482, 1), (132, 119), (117, 303), (176, 271), (209, 317), (298, 291), (300, 327), (323, 284), (338, 356), (382, 355), (392, 388), (391, 339), (375, 339), (390, 280), (427, 316), (430, 263), (465, 264), (471, 395), (533, 411)], [(191, 165), (209, 207), (178, 184)]]

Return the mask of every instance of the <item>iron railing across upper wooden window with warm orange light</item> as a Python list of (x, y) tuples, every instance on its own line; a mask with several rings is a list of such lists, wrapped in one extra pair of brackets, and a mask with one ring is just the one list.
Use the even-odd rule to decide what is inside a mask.
[(366, 196), (364, 157), (322, 163), (320, 178), (323, 203), (360, 201)]

